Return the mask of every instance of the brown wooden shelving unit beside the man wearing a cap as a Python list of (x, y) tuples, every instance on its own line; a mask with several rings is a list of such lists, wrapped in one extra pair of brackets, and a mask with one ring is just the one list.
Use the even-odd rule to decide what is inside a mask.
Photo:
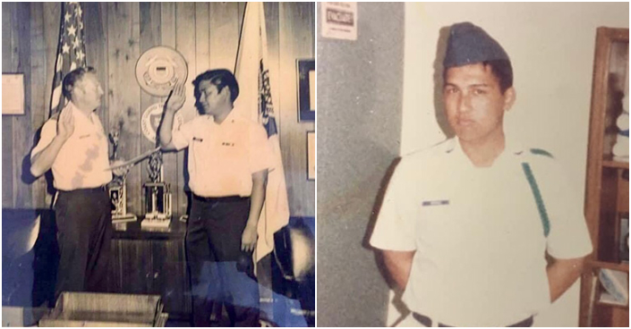
[[(598, 28), (593, 64), (592, 113), (587, 156), (585, 218), (593, 254), (581, 276), (580, 326), (628, 326), (629, 306), (601, 301), (601, 269), (627, 274), (620, 224), (629, 213), (629, 164), (613, 160), (612, 148), (627, 82), (628, 29)], [(628, 256), (627, 256), (628, 260)]]

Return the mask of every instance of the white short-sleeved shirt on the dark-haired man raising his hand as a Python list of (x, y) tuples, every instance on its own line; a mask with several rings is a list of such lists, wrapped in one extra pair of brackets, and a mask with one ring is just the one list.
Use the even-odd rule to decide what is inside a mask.
[(263, 126), (235, 112), (233, 109), (221, 124), (211, 115), (200, 115), (173, 132), (175, 148), (189, 148), (189, 186), (196, 195), (248, 197), (252, 173), (273, 164)]

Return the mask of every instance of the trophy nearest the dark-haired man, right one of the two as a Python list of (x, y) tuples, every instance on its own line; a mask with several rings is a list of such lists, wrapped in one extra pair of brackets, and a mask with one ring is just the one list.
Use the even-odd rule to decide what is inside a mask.
[(169, 184), (163, 181), (162, 153), (151, 154), (147, 166), (150, 182), (143, 184), (145, 218), (141, 227), (168, 228), (171, 224), (171, 191)]

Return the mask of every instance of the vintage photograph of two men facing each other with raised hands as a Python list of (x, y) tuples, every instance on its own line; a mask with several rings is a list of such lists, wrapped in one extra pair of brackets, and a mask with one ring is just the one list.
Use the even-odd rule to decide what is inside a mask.
[(314, 326), (315, 3), (2, 4), (2, 325)]

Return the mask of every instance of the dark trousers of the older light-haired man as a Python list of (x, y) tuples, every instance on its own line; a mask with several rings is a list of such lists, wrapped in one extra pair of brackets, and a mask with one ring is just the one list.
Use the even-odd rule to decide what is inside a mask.
[(112, 239), (112, 206), (106, 189), (59, 191), (55, 202), (62, 291), (106, 291)]

